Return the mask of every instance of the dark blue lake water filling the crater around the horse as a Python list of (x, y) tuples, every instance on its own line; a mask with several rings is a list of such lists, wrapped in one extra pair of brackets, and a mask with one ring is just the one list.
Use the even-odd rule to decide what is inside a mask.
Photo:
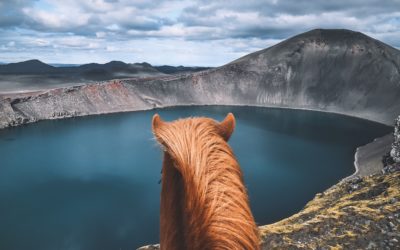
[(228, 112), (258, 224), (299, 211), (354, 172), (357, 146), (391, 128), (346, 116), (255, 107), (177, 107), (0, 130), (0, 249), (135, 249), (158, 242), (162, 153), (151, 117)]

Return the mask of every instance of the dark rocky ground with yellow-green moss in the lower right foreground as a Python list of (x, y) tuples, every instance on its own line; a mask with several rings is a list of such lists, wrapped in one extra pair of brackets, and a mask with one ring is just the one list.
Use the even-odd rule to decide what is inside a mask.
[(398, 249), (400, 172), (339, 183), (260, 232), (263, 249)]

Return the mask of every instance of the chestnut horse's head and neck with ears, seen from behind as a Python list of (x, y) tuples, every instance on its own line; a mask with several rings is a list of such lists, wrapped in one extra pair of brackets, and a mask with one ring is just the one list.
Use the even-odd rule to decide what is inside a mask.
[(164, 122), (156, 114), (152, 127), (164, 150), (161, 249), (259, 249), (242, 172), (227, 143), (234, 116)]

